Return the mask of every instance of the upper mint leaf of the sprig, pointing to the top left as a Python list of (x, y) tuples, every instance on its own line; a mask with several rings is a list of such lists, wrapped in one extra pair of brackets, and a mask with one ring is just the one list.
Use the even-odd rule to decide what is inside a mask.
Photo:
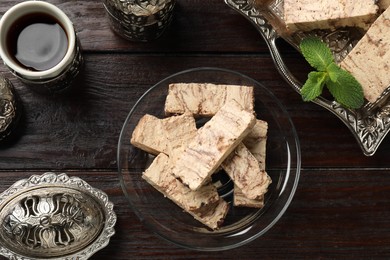
[(326, 71), (334, 57), (328, 46), (317, 37), (304, 38), (299, 48), (307, 62), (318, 71)]

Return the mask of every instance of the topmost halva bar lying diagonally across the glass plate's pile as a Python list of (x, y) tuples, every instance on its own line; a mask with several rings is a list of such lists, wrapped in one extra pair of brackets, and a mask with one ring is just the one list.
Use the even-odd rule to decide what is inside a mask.
[(256, 123), (253, 113), (231, 100), (201, 128), (173, 167), (173, 174), (198, 189)]

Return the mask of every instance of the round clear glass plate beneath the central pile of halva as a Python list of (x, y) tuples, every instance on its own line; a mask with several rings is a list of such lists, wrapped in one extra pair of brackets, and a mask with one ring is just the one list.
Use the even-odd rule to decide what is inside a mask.
[[(257, 117), (268, 122), (266, 171), (272, 178), (272, 184), (265, 195), (265, 205), (262, 209), (231, 205), (224, 224), (218, 230), (203, 226), (142, 179), (142, 172), (154, 156), (130, 144), (132, 132), (143, 115), (164, 117), (168, 84), (178, 82), (254, 86)], [(162, 238), (201, 251), (235, 248), (266, 233), (290, 204), (298, 184), (300, 165), (298, 136), (280, 101), (255, 80), (219, 68), (182, 71), (151, 87), (131, 109), (118, 144), (119, 179), (131, 209), (145, 226)], [(214, 174), (213, 181), (222, 183), (218, 192), (227, 202), (232, 202), (232, 181), (224, 174)]]

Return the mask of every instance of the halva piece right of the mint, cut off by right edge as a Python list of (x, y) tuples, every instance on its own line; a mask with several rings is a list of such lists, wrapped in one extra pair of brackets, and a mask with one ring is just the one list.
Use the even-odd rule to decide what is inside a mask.
[(364, 97), (377, 101), (390, 85), (390, 9), (386, 9), (340, 62), (362, 85)]

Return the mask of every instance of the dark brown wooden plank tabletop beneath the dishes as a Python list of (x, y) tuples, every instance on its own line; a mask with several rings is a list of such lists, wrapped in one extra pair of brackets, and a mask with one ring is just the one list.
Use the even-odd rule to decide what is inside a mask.
[[(0, 14), (20, 1), (2, 0)], [(178, 0), (169, 30), (135, 43), (115, 35), (102, 1), (50, 0), (77, 28), (85, 70), (68, 95), (37, 94), (1, 64), (23, 103), (18, 131), (0, 144), (0, 192), (47, 171), (79, 176), (115, 204), (116, 234), (92, 259), (361, 259), (390, 257), (390, 139), (366, 157), (347, 127), (304, 103), (278, 74), (264, 40), (222, 0)], [(1, 33), (1, 32), (0, 32)], [(307, 65), (286, 43), (298, 78)], [(150, 86), (181, 70), (213, 66), (246, 74), (281, 100), (297, 129), (302, 171), (287, 212), (264, 236), (237, 249), (197, 252), (172, 245), (131, 211), (117, 176), (121, 127)]]

